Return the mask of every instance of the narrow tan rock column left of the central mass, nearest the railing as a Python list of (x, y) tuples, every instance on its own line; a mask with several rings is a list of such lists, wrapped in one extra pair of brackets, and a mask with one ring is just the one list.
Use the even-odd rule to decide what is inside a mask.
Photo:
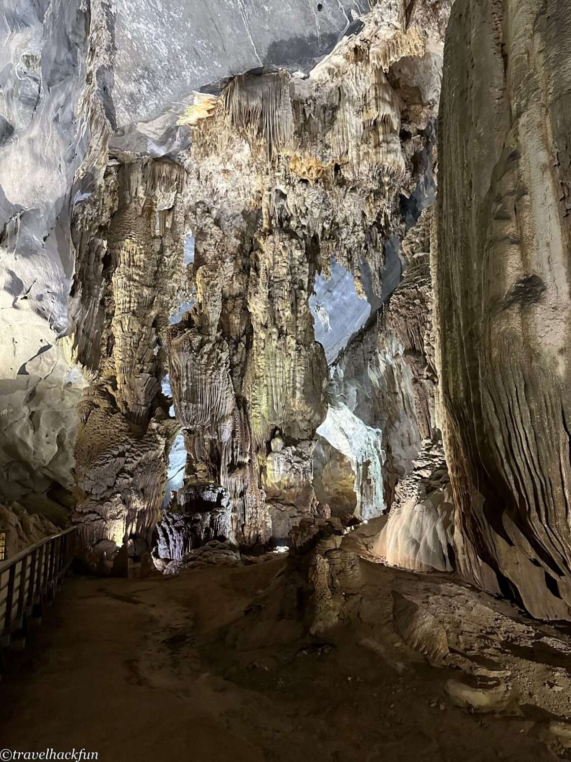
[[(129, 542), (142, 552), (160, 517), (178, 429), (168, 418), (161, 379), (183, 261), (183, 170), (171, 162), (132, 162), (118, 168), (114, 182), (116, 210), (97, 251), (102, 314), (93, 321), (99, 347), (90, 347), (88, 357), (98, 363), (78, 406), (75, 520), (94, 549), (101, 542), (113, 552)], [(78, 312), (89, 315), (86, 301)], [(77, 325), (72, 342), (81, 347), (84, 328), (79, 319)]]

